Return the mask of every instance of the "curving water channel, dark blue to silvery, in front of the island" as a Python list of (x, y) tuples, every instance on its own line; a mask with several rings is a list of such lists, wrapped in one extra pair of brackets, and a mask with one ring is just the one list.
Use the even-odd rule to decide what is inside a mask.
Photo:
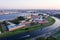
[(56, 17), (52, 17), (52, 18), (54, 18), (56, 22), (51, 26), (42, 28), (42, 30), (41, 29), (33, 30), (30, 32), (21, 33), (21, 34), (13, 35), (6, 38), (0, 38), (0, 40), (25, 40), (27, 38), (34, 38), (39, 35), (44, 35), (50, 31), (55, 30), (60, 26), (60, 19)]

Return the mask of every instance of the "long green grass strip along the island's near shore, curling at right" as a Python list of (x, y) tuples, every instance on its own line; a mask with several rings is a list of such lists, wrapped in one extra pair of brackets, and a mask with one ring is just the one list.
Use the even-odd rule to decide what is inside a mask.
[(19, 33), (40, 29), (42, 27), (46, 27), (46, 26), (52, 25), (55, 22), (55, 20), (53, 18), (51, 18), (51, 17), (48, 17), (47, 20), (49, 21), (48, 24), (43, 24), (42, 26), (41, 25), (33, 25), (33, 26), (29, 27), (28, 30), (20, 28), (20, 29), (11, 31), (11, 32), (3, 33), (3, 34), (0, 35), (0, 37), (8, 37), (8, 36), (19, 34)]

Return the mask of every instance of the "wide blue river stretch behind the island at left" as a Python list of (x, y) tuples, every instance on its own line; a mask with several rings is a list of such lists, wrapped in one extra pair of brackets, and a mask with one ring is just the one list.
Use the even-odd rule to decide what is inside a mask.
[(10, 20), (10, 19), (14, 19), (18, 16), (24, 16), (24, 15), (28, 15), (29, 13), (15, 13), (15, 14), (3, 14), (0, 15), (0, 20)]

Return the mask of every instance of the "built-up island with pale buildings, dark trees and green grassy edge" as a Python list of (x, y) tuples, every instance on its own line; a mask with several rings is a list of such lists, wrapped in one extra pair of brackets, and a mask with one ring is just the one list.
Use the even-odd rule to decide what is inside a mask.
[(55, 19), (48, 14), (29, 14), (12, 20), (0, 21), (0, 37), (8, 37), (53, 25)]

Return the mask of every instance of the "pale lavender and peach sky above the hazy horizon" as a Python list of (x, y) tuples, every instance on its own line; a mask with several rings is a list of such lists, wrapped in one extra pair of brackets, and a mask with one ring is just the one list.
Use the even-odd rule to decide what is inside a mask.
[(60, 0), (0, 0), (0, 9), (60, 9)]

